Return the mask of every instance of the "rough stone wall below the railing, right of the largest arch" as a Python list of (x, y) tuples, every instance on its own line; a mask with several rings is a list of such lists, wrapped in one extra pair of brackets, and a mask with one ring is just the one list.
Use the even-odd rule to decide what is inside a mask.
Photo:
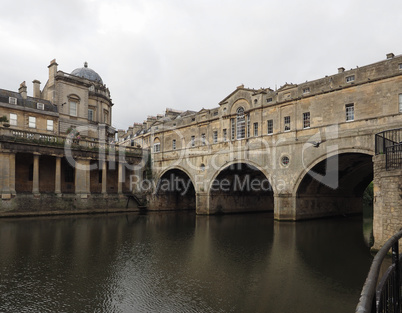
[[(402, 169), (385, 168), (385, 154), (374, 161), (374, 220), (373, 250), (382, 245), (402, 228)], [(402, 248), (402, 243), (400, 244)]]

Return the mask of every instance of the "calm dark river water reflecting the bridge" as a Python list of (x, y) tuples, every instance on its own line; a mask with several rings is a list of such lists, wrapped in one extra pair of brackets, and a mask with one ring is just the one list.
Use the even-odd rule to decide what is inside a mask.
[(0, 219), (0, 312), (354, 312), (361, 217)]

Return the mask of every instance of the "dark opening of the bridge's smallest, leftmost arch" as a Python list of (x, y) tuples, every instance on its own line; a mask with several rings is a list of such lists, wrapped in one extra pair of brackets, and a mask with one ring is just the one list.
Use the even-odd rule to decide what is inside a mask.
[(155, 207), (159, 210), (195, 210), (195, 189), (190, 177), (179, 169), (163, 174), (156, 188)]

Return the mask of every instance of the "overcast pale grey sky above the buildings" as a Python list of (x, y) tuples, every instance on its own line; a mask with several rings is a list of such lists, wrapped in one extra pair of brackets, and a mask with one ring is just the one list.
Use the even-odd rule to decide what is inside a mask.
[(0, 88), (42, 87), (85, 61), (127, 129), (166, 108), (218, 106), (402, 53), (400, 0), (14, 0), (1, 5)]

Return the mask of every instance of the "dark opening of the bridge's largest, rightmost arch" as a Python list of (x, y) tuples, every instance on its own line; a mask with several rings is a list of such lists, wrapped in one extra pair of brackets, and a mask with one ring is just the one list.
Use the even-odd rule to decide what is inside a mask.
[(371, 151), (345, 149), (317, 158), (295, 184), (297, 219), (361, 213), (372, 180)]

